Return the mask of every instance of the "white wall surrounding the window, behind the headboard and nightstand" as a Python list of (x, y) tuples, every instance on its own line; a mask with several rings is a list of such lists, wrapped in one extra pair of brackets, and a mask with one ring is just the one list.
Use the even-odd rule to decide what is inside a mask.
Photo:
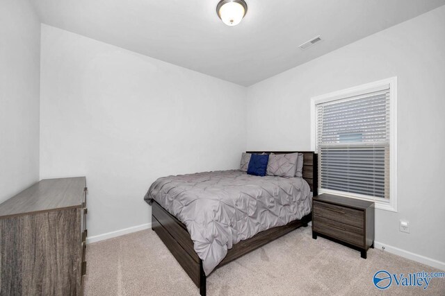
[(444, 36), (442, 6), (253, 85), (247, 119), (248, 150), (309, 150), (311, 97), (397, 76), (398, 213), (376, 211), (375, 241), (437, 266), (445, 266)]

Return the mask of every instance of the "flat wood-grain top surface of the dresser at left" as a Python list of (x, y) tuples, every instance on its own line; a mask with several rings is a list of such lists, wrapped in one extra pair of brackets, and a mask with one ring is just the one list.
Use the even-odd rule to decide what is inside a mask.
[(81, 207), (86, 177), (45, 179), (0, 204), (0, 219)]

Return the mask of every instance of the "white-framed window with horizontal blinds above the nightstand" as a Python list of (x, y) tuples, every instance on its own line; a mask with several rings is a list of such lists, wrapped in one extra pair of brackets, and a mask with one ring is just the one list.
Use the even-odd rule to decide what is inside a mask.
[(396, 211), (396, 78), (312, 98), (320, 193)]

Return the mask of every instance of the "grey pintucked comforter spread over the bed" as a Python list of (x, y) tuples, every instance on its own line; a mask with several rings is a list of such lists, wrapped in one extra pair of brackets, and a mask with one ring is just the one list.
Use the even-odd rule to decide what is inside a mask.
[(232, 245), (311, 211), (301, 177), (257, 177), (241, 170), (161, 177), (145, 195), (186, 225), (206, 275)]

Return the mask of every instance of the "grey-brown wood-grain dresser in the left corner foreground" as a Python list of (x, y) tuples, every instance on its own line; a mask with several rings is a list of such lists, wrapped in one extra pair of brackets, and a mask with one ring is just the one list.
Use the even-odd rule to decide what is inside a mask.
[(0, 295), (81, 295), (86, 178), (42, 180), (0, 204)]

